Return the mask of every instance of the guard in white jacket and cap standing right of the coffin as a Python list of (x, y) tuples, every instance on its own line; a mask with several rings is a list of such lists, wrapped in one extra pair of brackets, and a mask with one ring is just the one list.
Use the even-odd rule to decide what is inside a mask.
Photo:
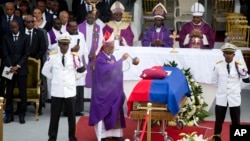
[(236, 47), (226, 43), (221, 48), (224, 60), (215, 64), (212, 83), (217, 85), (215, 105), (214, 141), (221, 141), (222, 124), (227, 108), (230, 109), (232, 125), (240, 124), (241, 80), (249, 83), (247, 68), (234, 60)]

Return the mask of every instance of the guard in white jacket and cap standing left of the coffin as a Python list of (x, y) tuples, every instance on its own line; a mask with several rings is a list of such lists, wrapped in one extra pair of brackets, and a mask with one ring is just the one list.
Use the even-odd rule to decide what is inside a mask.
[[(45, 62), (42, 74), (51, 79), (51, 113), (49, 125), (49, 140), (56, 141), (60, 113), (63, 104), (67, 110), (69, 125), (69, 141), (76, 139), (76, 118), (75, 118), (75, 101), (76, 101), (76, 79), (79, 79), (78, 73), (84, 71), (81, 62), (78, 61), (77, 55), (71, 53), (69, 43), (71, 37), (68, 34), (62, 34), (58, 39), (60, 52), (50, 55)], [(78, 64), (81, 64), (78, 66)], [(78, 73), (77, 73), (78, 72)]]

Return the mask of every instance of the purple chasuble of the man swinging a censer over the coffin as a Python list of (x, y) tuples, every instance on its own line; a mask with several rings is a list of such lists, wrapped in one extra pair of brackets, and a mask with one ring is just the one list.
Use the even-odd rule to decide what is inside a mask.
[(125, 128), (124, 100), (122, 60), (116, 61), (113, 55), (109, 58), (101, 51), (94, 70), (89, 125), (103, 120), (105, 129), (110, 130), (119, 121)]

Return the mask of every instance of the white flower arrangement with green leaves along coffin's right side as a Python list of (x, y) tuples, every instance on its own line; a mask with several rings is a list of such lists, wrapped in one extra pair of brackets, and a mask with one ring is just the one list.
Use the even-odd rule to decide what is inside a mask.
[[(175, 61), (169, 62), (164, 66), (177, 67)], [(185, 74), (189, 88), (191, 91), (191, 97), (186, 101), (184, 106), (181, 108), (181, 111), (178, 113), (179, 119), (183, 122), (184, 126), (193, 126), (198, 124), (200, 121), (203, 121), (204, 118), (208, 117), (210, 113), (204, 109), (207, 106), (207, 103), (202, 97), (202, 87), (197, 83), (190, 72), (190, 68), (182, 69), (182, 72)], [(169, 121), (169, 126), (176, 126), (176, 121)]]

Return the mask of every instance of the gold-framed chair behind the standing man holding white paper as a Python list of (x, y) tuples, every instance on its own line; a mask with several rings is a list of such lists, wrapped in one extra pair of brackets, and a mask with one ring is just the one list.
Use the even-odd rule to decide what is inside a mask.
[[(35, 118), (39, 120), (38, 108), (39, 108), (39, 99), (40, 99), (40, 90), (41, 90), (41, 80), (40, 80), (40, 72), (41, 72), (41, 62), (40, 60), (36, 60), (35, 58), (28, 58), (28, 69), (29, 74), (27, 78), (27, 102), (35, 103)], [(19, 98), (19, 90), (17, 87), (14, 88), (13, 91), (13, 101), (20, 102)]]

